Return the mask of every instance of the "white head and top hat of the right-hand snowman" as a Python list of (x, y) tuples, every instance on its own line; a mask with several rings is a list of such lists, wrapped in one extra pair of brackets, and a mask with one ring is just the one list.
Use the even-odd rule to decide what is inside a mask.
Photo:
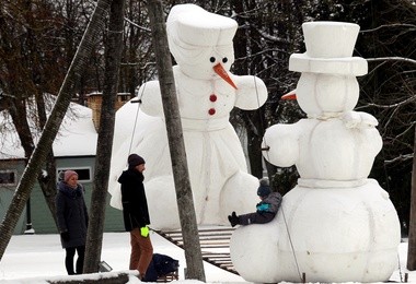
[(289, 70), (302, 72), (297, 86), (299, 106), (308, 117), (339, 117), (358, 102), (357, 75), (367, 60), (353, 57), (359, 26), (345, 22), (303, 23), (307, 52), (293, 54)]

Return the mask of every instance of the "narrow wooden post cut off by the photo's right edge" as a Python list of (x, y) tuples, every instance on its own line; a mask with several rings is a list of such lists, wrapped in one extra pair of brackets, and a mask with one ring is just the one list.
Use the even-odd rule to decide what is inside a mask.
[(413, 146), (411, 220), (408, 226), (407, 269), (416, 270), (416, 127)]

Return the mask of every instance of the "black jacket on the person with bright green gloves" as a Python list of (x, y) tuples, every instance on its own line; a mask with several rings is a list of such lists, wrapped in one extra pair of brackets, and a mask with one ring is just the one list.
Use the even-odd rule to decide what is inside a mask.
[(143, 174), (134, 168), (123, 171), (118, 178), (122, 184), (123, 217), (127, 232), (150, 224), (143, 180)]

